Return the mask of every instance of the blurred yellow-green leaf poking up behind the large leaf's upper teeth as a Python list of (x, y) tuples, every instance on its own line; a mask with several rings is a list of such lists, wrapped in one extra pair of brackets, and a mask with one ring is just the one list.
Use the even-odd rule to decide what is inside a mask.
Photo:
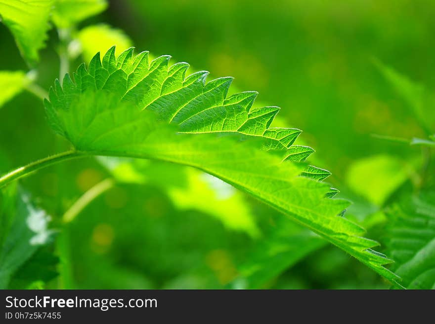
[(88, 26), (76, 35), (80, 43), (82, 55), (89, 61), (97, 52), (105, 53), (111, 46), (116, 45), (119, 54), (131, 47), (131, 39), (122, 30), (109, 25), (99, 24)]

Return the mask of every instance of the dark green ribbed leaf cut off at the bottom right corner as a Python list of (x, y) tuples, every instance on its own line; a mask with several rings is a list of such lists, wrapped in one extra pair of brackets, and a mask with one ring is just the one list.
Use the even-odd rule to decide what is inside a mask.
[(386, 245), (393, 269), (410, 289), (435, 289), (435, 193), (391, 208)]

